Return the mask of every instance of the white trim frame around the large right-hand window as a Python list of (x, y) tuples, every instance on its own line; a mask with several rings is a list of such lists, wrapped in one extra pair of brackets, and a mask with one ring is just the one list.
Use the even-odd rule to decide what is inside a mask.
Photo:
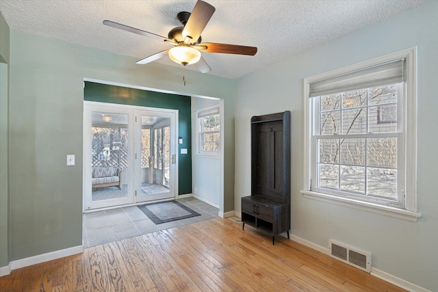
[[(385, 62), (391, 62), (394, 59), (404, 58), (405, 66), (407, 68), (406, 75), (406, 120), (404, 120), (404, 131), (406, 131), (406, 157), (405, 157), (405, 171), (406, 171), (406, 191), (405, 194), (405, 209), (396, 207), (389, 207), (382, 204), (374, 204), (372, 202), (365, 202), (362, 200), (355, 200), (352, 198), (343, 198), (333, 196), (330, 194), (322, 194), (320, 192), (311, 191), (311, 158), (312, 158), (312, 125), (309, 120), (311, 117), (311, 98), (309, 98), (309, 84), (318, 80), (327, 79), (329, 77), (342, 75), (347, 72), (360, 70), (370, 66), (376, 66)], [(305, 198), (312, 198), (323, 202), (331, 202), (333, 204), (340, 204), (345, 207), (377, 213), (388, 217), (394, 217), (401, 220), (416, 222), (421, 213), (417, 212), (417, 48), (413, 47), (370, 59), (359, 64), (353, 64), (343, 68), (323, 72), (318, 75), (313, 75), (304, 79), (304, 181), (303, 190), (301, 193)]]

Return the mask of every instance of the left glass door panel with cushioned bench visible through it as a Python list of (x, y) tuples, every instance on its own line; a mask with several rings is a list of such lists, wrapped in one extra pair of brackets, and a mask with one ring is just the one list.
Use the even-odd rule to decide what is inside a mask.
[[(129, 113), (112, 111), (110, 107), (89, 111), (91, 139), (88, 145), (91, 184), (86, 193), (86, 209), (112, 207), (133, 202), (129, 191), (130, 144)], [(116, 110), (116, 109), (114, 109)], [(132, 150), (131, 150), (132, 151)]]

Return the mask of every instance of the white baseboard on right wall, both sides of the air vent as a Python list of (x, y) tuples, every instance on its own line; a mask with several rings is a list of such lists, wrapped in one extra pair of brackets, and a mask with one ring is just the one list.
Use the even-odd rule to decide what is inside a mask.
[[(313, 250), (318, 250), (318, 252), (322, 252), (324, 254), (330, 255), (330, 249), (324, 248), (321, 245), (315, 244), (311, 241), (308, 241), (307, 239), (302, 239), (301, 237), (298, 237), (296, 235), (290, 235), (290, 239), (293, 241), (296, 241), (298, 243), (301, 243), (302, 245), (306, 245), (309, 248), (313, 248)], [(417, 284), (413, 284), (411, 282), (408, 282), (407, 280), (403, 280), (402, 278), (398, 278), (394, 275), (388, 274), (385, 271), (381, 271), (380, 269), (376, 269), (375, 267), (371, 267), (371, 273), (372, 276), (381, 278), (382, 280), (389, 282), (391, 284), (394, 284), (400, 288), (406, 289), (407, 291), (415, 291), (415, 292), (432, 292), (428, 289), (425, 289), (423, 287), (418, 286)]]

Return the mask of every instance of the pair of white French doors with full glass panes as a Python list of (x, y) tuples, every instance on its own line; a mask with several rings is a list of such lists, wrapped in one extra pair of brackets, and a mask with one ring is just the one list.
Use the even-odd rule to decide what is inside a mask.
[(177, 114), (84, 102), (84, 211), (175, 198)]

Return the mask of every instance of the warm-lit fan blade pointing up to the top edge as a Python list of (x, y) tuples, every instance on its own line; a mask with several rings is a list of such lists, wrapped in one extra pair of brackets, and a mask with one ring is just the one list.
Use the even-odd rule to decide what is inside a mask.
[(190, 43), (195, 43), (201, 33), (205, 29), (205, 26), (209, 22), (211, 16), (213, 16), (214, 11), (213, 5), (210, 5), (207, 2), (198, 0), (194, 5), (192, 14), (190, 14), (189, 20), (184, 26), (183, 30), (183, 38), (191, 38)]

